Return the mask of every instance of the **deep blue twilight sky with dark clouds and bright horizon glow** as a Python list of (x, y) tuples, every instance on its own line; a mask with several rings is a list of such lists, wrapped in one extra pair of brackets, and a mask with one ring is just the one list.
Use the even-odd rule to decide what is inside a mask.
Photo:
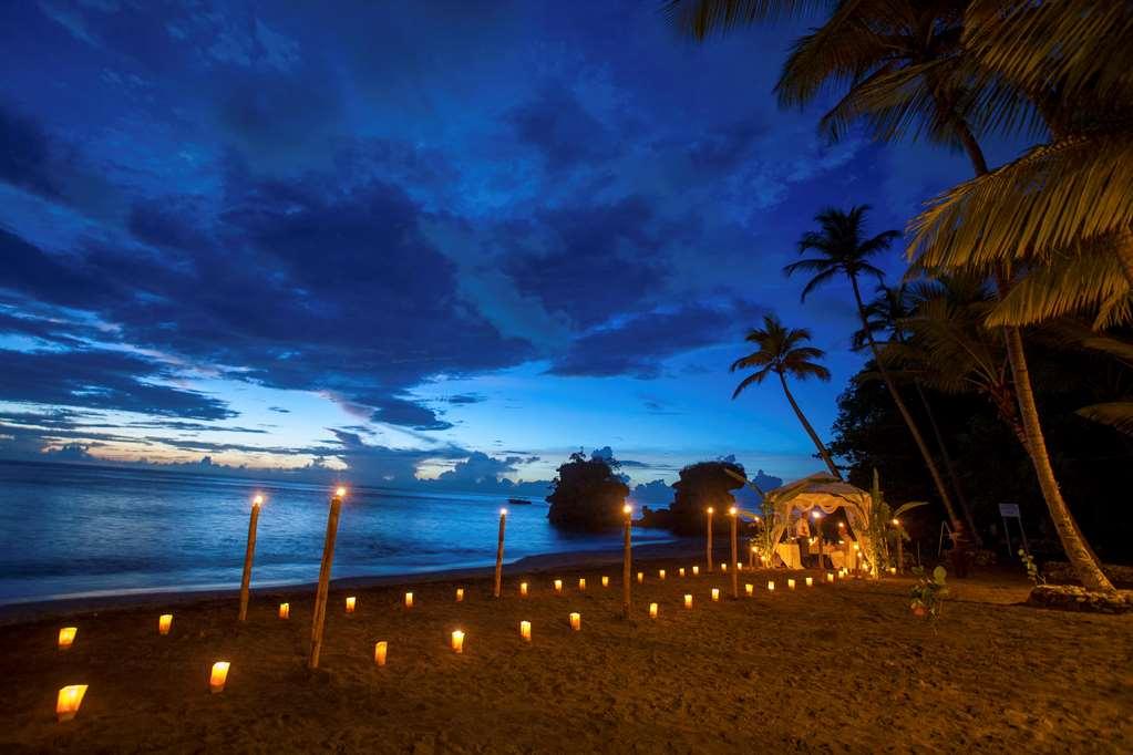
[(964, 162), (780, 111), (804, 25), (695, 45), (658, 5), (0, 5), (0, 457), (819, 469), (777, 386), (731, 401), (742, 334), (813, 329), (827, 434), (849, 288), (782, 266), (821, 207), (903, 228)]

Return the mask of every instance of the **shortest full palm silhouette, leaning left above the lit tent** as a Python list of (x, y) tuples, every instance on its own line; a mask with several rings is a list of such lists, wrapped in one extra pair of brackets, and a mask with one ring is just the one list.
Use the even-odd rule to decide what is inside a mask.
[(826, 462), (830, 474), (841, 480), (842, 472), (830, 458), (830, 452), (826, 449), (818, 434), (815, 432), (815, 428), (810, 426), (806, 414), (799, 409), (799, 403), (794, 400), (791, 388), (786, 384), (787, 375), (800, 380), (810, 377), (824, 381), (829, 380), (830, 371), (816, 361), (821, 359), (826, 352), (817, 346), (804, 345), (810, 341), (810, 331), (807, 328), (787, 329), (774, 315), (764, 315), (764, 327), (749, 331), (744, 341), (756, 344), (758, 349), (732, 362), (732, 371), (739, 369), (753, 369), (756, 371), (740, 381), (735, 392), (732, 393), (732, 398), (734, 400), (743, 393), (748, 386), (763, 383), (768, 375), (774, 372), (780, 379), (780, 385), (783, 386), (783, 393), (791, 403), (791, 409), (794, 410), (794, 415), (799, 418), (802, 429), (807, 431), (815, 448), (818, 449), (818, 455)]

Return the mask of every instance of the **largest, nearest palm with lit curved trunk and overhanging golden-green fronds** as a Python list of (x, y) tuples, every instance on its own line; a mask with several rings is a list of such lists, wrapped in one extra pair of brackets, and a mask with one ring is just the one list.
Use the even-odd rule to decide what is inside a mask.
[[(716, 9), (700, 14), (701, 29), (683, 27), (702, 38), (712, 31), (764, 20), (770, 16), (769, 9), (798, 10), (815, 3), (765, 0), (758, 3), (759, 12), (747, 17), (719, 10), (740, 5), (739, 0), (693, 0), (691, 5)], [(673, 17), (679, 18), (675, 14)], [(828, 88), (841, 89), (842, 98), (821, 121), (833, 138), (844, 134), (850, 123), (864, 121), (880, 140), (927, 135), (934, 141), (966, 153), (977, 179), (945, 195), (929, 211), (929, 221), (919, 220), (914, 226), (918, 233), (910, 256), (918, 259), (922, 269), (991, 273), (998, 295), (1004, 298), (1014, 280), (1011, 263), (1020, 251), (1036, 248), (1040, 239), (1077, 240), (1084, 229), (1094, 231), (1091, 240), (1119, 247), (1118, 257), (1130, 260), (1125, 267), (1133, 281), (1133, 250), (1123, 251), (1126, 243), (1133, 244), (1133, 211), (1126, 212), (1128, 205), (1118, 196), (1128, 183), (1105, 178), (1106, 161), (1122, 160), (1121, 168), (1109, 175), (1123, 177), (1133, 160), (1119, 144), (1122, 134), (1126, 138), (1130, 134), (1133, 77), (1128, 71), (1133, 69), (1114, 66), (1114, 60), (1128, 61), (1133, 57), (1130, 45), (1122, 48), (1119, 42), (1127, 38), (1121, 32), (1130, 29), (1133, 29), (1130, 3), (843, 0), (820, 28), (799, 41), (776, 88), (781, 103), (798, 105), (813, 101)], [(1066, 50), (1073, 50), (1074, 54), (1065, 54)], [(1099, 81), (1105, 94), (1097, 91)], [(1091, 119), (1083, 117), (1083, 111), (1100, 115)], [(981, 182), (990, 174), (978, 140), (981, 129), (1033, 132), (1048, 128), (1056, 137), (1068, 134), (1056, 146), (1040, 147), (1043, 152), (1036, 156), (1054, 157), (1059, 151), (1072, 153), (1081, 144), (1083, 125), (1092, 125), (1105, 135), (1104, 158), (1099, 164), (1084, 161), (1085, 156), (1079, 154), (1076, 158), (1083, 160), (1085, 166), (1073, 174), (1079, 177), (1076, 186), (1091, 187), (1089, 196), (1105, 201), (1084, 201), (1066, 191), (1065, 187), (1071, 185), (1059, 181), (1048, 181), (1051, 188), (1047, 191), (1033, 191), (1033, 181), (1022, 179), (1049, 174), (1041, 170), (1020, 171), (1007, 179), (1019, 200), (1015, 207), (1019, 212), (995, 220), (998, 214), (994, 209), (995, 191), (989, 189), (980, 194), (988, 208), (985, 215), (988, 222), (979, 223), (978, 218), (969, 222), (960, 213), (947, 214), (946, 208), (955, 206), (948, 198), (964, 196), (965, 187), (988, 186)], [(1073, 164), (1064, 168), (1073, 169)], [(1106, 191), (1107, 188), (1111, 191)], [(1028, 191), (1040, 198), (1025, 203)], [(1062, 204), (1050, 203), (1050, 197), (1060, 198)], [(1024, 205), (1032, 211), (1049, 205), (1066, 222), (1040, 220), (1040, 215), (1025, 212)], [(1087, 221), (1092, 225), (1082, 225)], [(1045, 230), (1039, 239), (1034, 238), (1037, 225)], [(978, 233), (977, 228), (993, 229), (995, 240), (965, 248), (960, 239)], [(1029, 243), (1021, 243), (1028, 238)], [(1012, 246), (1003, 248), (1005, 239), (1012, 240)], [(942, 248), (940, 240), (949, 243)], [(931, 249), (937, 252), (926, 251)], [(977, 249), (981, 256), (977, 256)], [(1051, 254), (1072, 252), (1057, 246), (1040, 249), (1048, 254), (1047, 259)], [(986, 263), (982, 268), (974, 264), (978, 259)], [(1063, 548), (1083, 584), (1113, 591), (1058, 488), (1034, 402), (1022, 334), (1015, 326), (1005, 326), (1002, 332), (1028, 437), (1028, 454)]]

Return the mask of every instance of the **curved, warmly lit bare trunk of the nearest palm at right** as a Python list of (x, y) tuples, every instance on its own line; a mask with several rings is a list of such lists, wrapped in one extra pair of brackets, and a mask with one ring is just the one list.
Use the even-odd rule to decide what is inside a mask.
[[(957, 131), (976, 174), (982, 175), (987, 173), (988, 166), (983, 158), (983, 152), (968, 128), (968, 125), (960, 122)], [(998, 275), (997, 283), (1002, 299), (1007, 292), (1007, 276)], [(1109, 578), (1101, 570), (1101, 564), (1097, 555), (1094, 555), (1093, 549), (1085, 541), (1082, 531), (1077, 526), (1077, 522), (1074, 521), (1074, 515), (1071, 514), (1070, 507), (1066, 506), (1062, 490), (1058, 488), (1058, 479), (1055, 477), (1055, 470), (1050, 465), (1047, 441), (1042, 435), (1042, 424), (1039, 421), (1039, 407), (1034, 403), (1034, 389), (1031, 386), (1031, 374), (1026, 364), (1026, 352), (1023, 350), (1022, 333), (1017, 327), (1005, 326), (1003, 334), (1007, 345), (1007, 361), (1011, 363), (1011, 375), (1015, 383), (1015, 400), (1019, 402), (1020, 421), (1023, 426), (1023, 448), (1026, 451), (1026, 455), (1030, 456), (1031, 464), (1034, 466), (1034, 475), (1038, 478), (1039, 489), (1042, 491), (1042, 498), (1047, 503), (1047, 511), (1050, 513), (1050, 520), (1058, 532), (1063, 550), (1066, 551), (1066, 558), (1070, 559), (1071, 565), (1074, 567), (1074, 573), (1077, 574), (1077, 578), (1082, 581), (1083, 585), (1091, 590), (1110, 592), (1114, 590), (1114, 585), (1110, 584)]]

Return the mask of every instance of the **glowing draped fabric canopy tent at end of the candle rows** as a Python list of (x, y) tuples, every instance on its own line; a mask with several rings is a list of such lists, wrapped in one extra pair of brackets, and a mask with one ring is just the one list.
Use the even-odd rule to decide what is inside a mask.
[(845, 509), (850, 534), (861, 547), (861, 554), (866, 556), (874, 552), (869, 541), (874, 499), (860, 488), (842, 482), (826, 472), (816, 472), (769, 490), (765, 501), (775, 513), (772, 527), (773, 543), (778, 543), (783, 539), (794, 512), (809, 516), (815, 508), (824, 514), (830, 514), (841, 507)]

